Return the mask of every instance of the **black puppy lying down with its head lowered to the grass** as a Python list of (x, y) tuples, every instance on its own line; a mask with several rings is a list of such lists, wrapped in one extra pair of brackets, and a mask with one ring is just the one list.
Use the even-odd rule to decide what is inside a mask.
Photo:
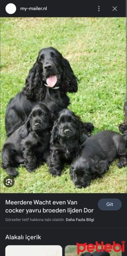
[(89, 137), (82, 144), (81, 154), (73, 161), (70, 175), (73, 183), (78, 187), (87, 187), (91, 180), (102, 175), (109, 169), (109, 165), (117, 157), (118, 167), (127, 164), (126, 141), (115, 131), (101, 131)]

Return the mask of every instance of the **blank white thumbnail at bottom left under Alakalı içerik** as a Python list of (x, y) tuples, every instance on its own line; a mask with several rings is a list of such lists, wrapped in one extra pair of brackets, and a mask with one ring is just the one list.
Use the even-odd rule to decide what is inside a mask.
[(8, 245), (5, 256), (62, 256), (59, 245)]

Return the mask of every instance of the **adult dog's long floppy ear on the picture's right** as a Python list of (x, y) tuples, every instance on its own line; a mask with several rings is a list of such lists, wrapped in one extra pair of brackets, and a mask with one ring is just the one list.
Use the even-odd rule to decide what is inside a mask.
[(62, 89), (66, 92), (76, 93), (78, 90), (78, 79), (74, 75), (69, 61), (62, 58), (62, 63), (64, 65), (64, 71), (62, 74)]

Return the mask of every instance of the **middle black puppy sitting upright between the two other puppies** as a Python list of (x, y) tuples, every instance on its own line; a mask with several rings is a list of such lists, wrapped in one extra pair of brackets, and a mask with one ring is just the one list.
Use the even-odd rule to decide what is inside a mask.
[(69, 109), (59, 112), (51, 132), (50, 141), (50, 172), (52, 175), (61, 175), (64, 162), (71, 163), (80, 151), (81, 144), (88, 134), (82, 133), (79, 117)]

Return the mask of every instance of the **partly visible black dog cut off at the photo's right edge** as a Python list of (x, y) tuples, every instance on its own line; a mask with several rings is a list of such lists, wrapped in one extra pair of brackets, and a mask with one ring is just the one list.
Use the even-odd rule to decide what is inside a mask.
[(124, 103), (124, 122), (119, 125), (119, 131), (123, 134), (127, 147), (127, 102)]

